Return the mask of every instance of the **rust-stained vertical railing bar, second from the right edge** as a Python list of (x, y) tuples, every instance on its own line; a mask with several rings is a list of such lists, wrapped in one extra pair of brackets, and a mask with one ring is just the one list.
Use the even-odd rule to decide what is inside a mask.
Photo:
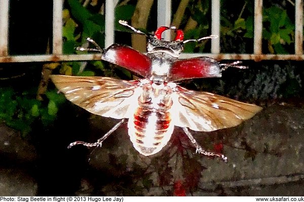
[(262, 30), (263, 30), (263, 0), (254, 1), (254, 37), (253, 53), (262, 54)]

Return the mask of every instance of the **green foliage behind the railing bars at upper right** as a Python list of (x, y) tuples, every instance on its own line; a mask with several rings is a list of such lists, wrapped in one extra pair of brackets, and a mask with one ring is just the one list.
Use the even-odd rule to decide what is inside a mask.
[[(242, 41), (237, 36), (251, 39), (253, 43), (253, 8), (245, 3), (241, 14), (234, 21), (225, 16), (227, 15), (221, 16), (221, 36), (224, 38), (224, 43), (226, 43), (227, 37), (233, 37), (238, 44), (246, 44), (246, 40)], [(262, 35), (263, 43), (267, 44), (267, 46), (263, 46), (264, 53), (293, 53), (293, 49), (289, 45), (294, 42), (294, 23), (283, 8), (278, 6), (263, 8)]]

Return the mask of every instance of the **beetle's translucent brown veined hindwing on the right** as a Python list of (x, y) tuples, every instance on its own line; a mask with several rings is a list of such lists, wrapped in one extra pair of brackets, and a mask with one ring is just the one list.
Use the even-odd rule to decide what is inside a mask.
[(180, 86), (174, 92), (172, 109), (176, 126), (206, 132), (237, 126), (262, 110), (256, 105)]

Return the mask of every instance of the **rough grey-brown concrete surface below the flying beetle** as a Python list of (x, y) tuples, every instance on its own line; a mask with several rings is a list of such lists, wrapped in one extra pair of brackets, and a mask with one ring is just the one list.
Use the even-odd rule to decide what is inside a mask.
[[(74, 194), (173, 195), (176, 180), (184, 182), (199, 176), (191, 190), (184, 187), (186, 195), (303, 195), (303, 117), (303, 105), (276, 103), (264, 106), (263, 111), (238, 127), (211, 133), (193, 132), (207, 148), (212, 148), (214, 142), (222, 142), (223, 153), (229, 158), (227, 164), (195, 154), (195, 148), (179, 136), (178, 129), (159, 154), (143, 157), (133, 148), (124, 125), (101, 148), (88, 150), (87, 169), (77, 174), (82, 180)], [(89, 141), (101, 137), (115, 121), (93, 116)], [(37, 194), (40, 183), (29, 166), (36, 158), (34, 147), (5, 125), (0, 131), (0, 155), (4, 157), (0, 195)], [(186, 147), (183, 150), (186, 160), (176, 155), (179, 147), (174, 144), (179, 138)], [(83, 146), (77, 145), (68, 151), (72, 156), (80, 148)], [(185, 166), (186, 163), (190, 165)], [(191, 170), (189, 175), (191, 172), (185, 169), (194, 172)]]

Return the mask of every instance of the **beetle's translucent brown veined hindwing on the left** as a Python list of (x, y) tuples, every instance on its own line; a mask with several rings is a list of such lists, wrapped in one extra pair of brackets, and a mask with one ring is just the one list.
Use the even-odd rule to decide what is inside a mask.
[(62, 75), (52, 75), (51, 79), (73, 104), (115, 119), (133, 116), (141, 92), (140, 81)]

